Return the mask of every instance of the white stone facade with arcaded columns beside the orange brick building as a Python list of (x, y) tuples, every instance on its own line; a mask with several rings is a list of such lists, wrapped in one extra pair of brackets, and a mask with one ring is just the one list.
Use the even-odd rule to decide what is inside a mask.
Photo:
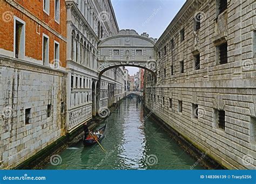
[[(99, 81), (98, 48), (101, 39), (119, 31), (110, 1), (66, 1), (68, 132), (99, 110), (123, 98), (123, 68), (107, 70)], [(104, 13), (104, 15), (102, 15)], [(104, 19), (104, 16), (106, 19)]]

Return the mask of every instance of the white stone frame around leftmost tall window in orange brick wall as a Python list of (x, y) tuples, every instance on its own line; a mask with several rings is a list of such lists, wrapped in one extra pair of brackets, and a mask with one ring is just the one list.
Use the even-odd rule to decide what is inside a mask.
[[(16, 57), (16, 23), (20, 23), (20, 24), (23, 24), (23, 27), (22, 27), (22, 35), (21, 35), (21, 39), (23, 39), (23, 44), (21, 46), (21, 48), (19, 48), (19, 53), (22, 52), (22, 54), (19, 54), (17, 57)], [(14, 16), (14, 58), (17, 58), (17, 59), (24, 59), (25, 58), (25, 46), (26, 46), (26, 22), (16, 16)]]

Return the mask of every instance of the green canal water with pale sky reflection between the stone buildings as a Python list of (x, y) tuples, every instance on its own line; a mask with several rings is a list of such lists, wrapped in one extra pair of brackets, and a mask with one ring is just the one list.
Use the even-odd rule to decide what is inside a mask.
[[(151, 117), (144, 119), (146, 115), (136, 97), (126, 98), (105, 119), (106, 137), (100, 144), (106, 152), (99, 145), (84, 147), (81, 142), (60, 153), (61, 164), (49, 163), (45, 169), (190, 169), (197, 160)], [(204, 167), (198, 164), (193, 169)]]

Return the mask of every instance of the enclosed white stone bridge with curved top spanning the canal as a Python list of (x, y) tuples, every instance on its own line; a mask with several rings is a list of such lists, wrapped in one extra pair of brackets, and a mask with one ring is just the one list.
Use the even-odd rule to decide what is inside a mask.
[(98, 45), (98, 72), (102, 74), (111, 68), (133, 66), (149, 70), (156, 80), (156, 39), (149, 34), (134, 30), (120, 30), (115, 36), (104, 38)]

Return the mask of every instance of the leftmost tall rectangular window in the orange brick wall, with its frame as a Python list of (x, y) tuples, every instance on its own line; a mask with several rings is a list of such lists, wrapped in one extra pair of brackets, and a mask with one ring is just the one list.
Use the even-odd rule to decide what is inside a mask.
[(17, 17), (14, 18), (14, 53), (15, 58), (25, 56), (25, 22)]

